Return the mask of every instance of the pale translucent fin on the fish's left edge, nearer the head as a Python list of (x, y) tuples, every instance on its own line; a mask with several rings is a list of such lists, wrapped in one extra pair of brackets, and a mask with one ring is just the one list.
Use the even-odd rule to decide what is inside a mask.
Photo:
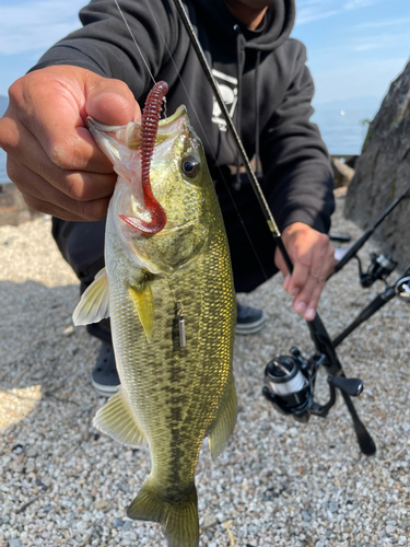
[(90, 325), (109, 317), (109, 290), (105, 268), (98, 271), (91, 286), (82, 293), (72, 314), (74, 325)]

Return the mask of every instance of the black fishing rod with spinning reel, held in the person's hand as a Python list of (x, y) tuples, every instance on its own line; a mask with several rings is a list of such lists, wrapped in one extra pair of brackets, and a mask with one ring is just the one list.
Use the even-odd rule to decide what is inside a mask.
[[(180, 0), (173, 0), (173, 2), (175, 4), (175, 8), (176, 8), (179, 16), (180, 16), (183, 24), (188, 33), (189, 40), (190, 40), (192, 48), (197, 55), (198, 61), (203, 70), (203, 73), (204, 73), (208, 82), (211, 85), (215, 101), (218, 102), (218, 105), (221, 109), (222, 116), (226, 121), (227, 129), (229, 129), (231, 136), (233, 137), (235, 147), (241, 155), (241, 159), (242, 159), (243, 164), (245, 166), (246, 173), (248, 175), (248, 178), (249, 178), (250, 184), (253, 186), (253, 189), (255, 191), (256, 198), (258, 199), (260, 208), (261, 208), (263, 216), (267, 220), (269, 230), (270, 230), (273, 238), (276, 240), (276, 243), (277, 243), (277, 245), (278, 245), (278, 247), (283, 256), (283, 259), (286, 264), (286, 267), (288, 267), (290, 274), (292, 274), (293, 272), (293, 264), (292, 264), (292, 260), (291, 260), (291, 258), (288, 254), (288, 251), (283, 244), (281, 233), (278, 229), (278, 225), (277, 225), (274, 219), (273, 219), (273, 214), (272, 214), (272, 212), (271, 212), (271, 210), (266, 201), (265, 195), (262, 193), (262, 189), (260, 188), (260, 185), (259, 185), (258, 179), (254, 173), (254, 170), (251, 168), (249, 159), (246, 154), (246, 151), (245, 151), (244, 146), (241, 141), (241, 138), (235, 129), (235, 126), (232, 121), (232, 118), (227, 112), (225, 103), (224, 103), (222, 95), (219, 91), (218, 83), (216, 83), (215, 79), (213, 78), (212, 71), (208, 65), (207, 58), (203, 54), (202, 47), (197, 38), (197, 35), (195, 34), (191, 22), (189, 21), (189, 18), (184, 9), (181, 1)], [(323, 324), (323, 322), (319, 317), (319, 314), (316, 313), (315, 318), (313, 321), (307, 321), (306, 323), (307, 323), (307, 327), (309, 329), (311, 338), (312, 338), (312, 340), (315, 345), (315, 348), (316, 348), (316, 354), (314, 357), (314, 362), (316, 363), (315, 364), (316, 371), (317, 371), (319, 365), (323, 365), (326, 368), (326, 370), (329, 374), (328, 379), (329, 379), (329, 386), (330, 386), (330, 401), (329, 401), (329, 404), (325, 405), (325, 407), (321, 407), (320, 405), (318, 405), (316, 403), (314, 404), (313, 403), (313, 395), (312, 395), (312, 409), (311, 409), (309, 414), (316, 414), (317, 416), (326, 416), (327, 412), (329, 411), (329, 408), (335, 404), (336, 389), (338, 388), (340, 391), (340, 393), (342, 394), (344, 403), (345, 403), (348, 410), (352, 417), (353, 428), (354, 428), (361, 451), (366, 455), (374, 454), (376, 451), (376, 446), (375, 446), (370, 433), (367, 432), (365, 426), (360, 420), (360, 418), (355, 411), (355, 408), (353, 406), (353, 403), (351, 401), (352, 396), (358, 396), (362, 392), (363, 383), (358, 379), (347, 379), (345, 377), (344, 372), (343, 372), (342, 366), (341, 366), (341, 363), (337, 357), (332, 341), (331, 341), (331, 339), (330, 339), (330, 337), (325, 328), (325, 325)], [(303, 358), (296, 348), (294, 348), (294, 350), (295, 350), (295, 354), (293, 356), (294, 357), (293, 360), (292, 360), (292, 358), (289, 358), (290, 361), (285, 361), (283, 363), (281, 361), (278, 361), (280, 363), (280, 366), (276, 366), (274, 360), (272, 360), (271, 363), (273, 363), (272, 366), (279, 371), (279, 373), (282, 375), (282, 377), (284, 376), (288, 380), (293, 380), (294, 377), (297, 377), (298, 381), (301, 382), (303, 379), (297, 375), (296, 368), (297, 368), (297, 365), (301, 365), (301, 360), (303, 361)], [(281, 359), (281, 358), (279, 358), (279, 359)], [(269, 364), (268, 364), (268, 366), (269, 366)], [(283, 372), (284, 370), (288, 370), (288, 373)], [(316, 377), (316, 373), (315, 373), (315, 377)], [(285, 384), (286, 382), (279, 382), (279, 383)], [(314, 381), (309, 380), (308, 384), (313, 386)], [(304, 389), (305, 389), (305, 387), (302, 387), (302, 392), (304, 392)], [(263, 388), (262, 393), (267, 398), (269, 398), (269, 400), (273, 404), (273, 406), (278, 407), (278, 405), (276, 405), (274, 395), (268, 388)], [(312, 393), (313, 393), (313, 388), (312, 388)], [(306, 394), (307, 394), (307, 392), (306, 392)], [(298, 396), (296, 396), (296, 398), (298, 400)], [(307, 397), (307, 400), (309, 400), (309, 397)], [(280, 407), (278, 407), (278, 409), (280, 409)], [(302, 417), (302, 414), (301, 414), (301, 417)], [(304, 420), (305, 416), (308, 417), (309, 414), (306, 414), (306, 412), (303, 414), (303, 420)], [(296, 415), (294, 414), (294, 416), (296, 416)]]

